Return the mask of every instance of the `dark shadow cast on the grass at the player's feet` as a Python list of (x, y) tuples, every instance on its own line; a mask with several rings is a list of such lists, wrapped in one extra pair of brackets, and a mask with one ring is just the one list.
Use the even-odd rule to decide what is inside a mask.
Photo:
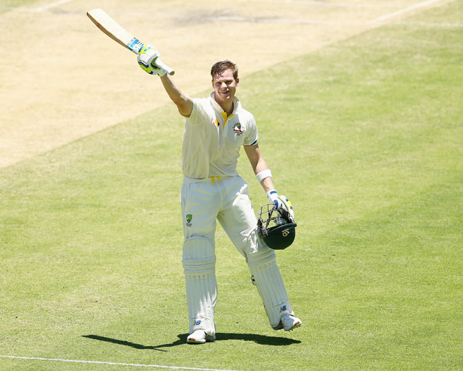
[[(162, 347), (175, 347), (177, 345), (184, 345), (187, 343), (188, 334), (179, 334), (178, 340), (173, 343), (160, 344), (160, 345), (142, 345), (137, 343), (131, 343), (130, 341), (117, 340), (115, 338), (106, 338), (104, 336), (98, 335), (83, 335), (83, 338), (91, 338), (98, 341), (106, 341), (108, 343), (113, 343), (117, 345), (124, 345), (126, 347), (133, 347), (135, 349), (147, 349), (147, 350), (159, 350), (160, 352), (167, 352), (167, 350), (162, 350), (159, 348)], [(266, 336), (266, 335), (256, 335), (256, 334), (231, 334), (220, 332), (216, 334), (216, 341), (227, 341), (227, 340), (242, 340), (242, 341), (252, 341), (253, 343), (261, 345), (292, 345), (299, 344), (301, 341), (294, 340), (292, 338), (283, 338), (280, 336)]]

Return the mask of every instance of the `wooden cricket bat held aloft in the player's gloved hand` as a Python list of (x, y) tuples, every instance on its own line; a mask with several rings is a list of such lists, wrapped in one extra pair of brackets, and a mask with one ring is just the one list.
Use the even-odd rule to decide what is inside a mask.
[[(104, 10), (91, 9), (88, 10), (87, 15), (97, 28), (100, 28), (100, 30), (111, 37), (111, 39), (138, 55), (138, 52), (143, 47), (143, 43), (118, 24), (114, 19), (109, 17)], [(169, 75), (173, 75), (175, 73), (175, 71), (167, 66), (167, 64), (164, 64), (159, 57), (156, 59), (155, 64), (164, 69), (164, 71), (167, 71)]]

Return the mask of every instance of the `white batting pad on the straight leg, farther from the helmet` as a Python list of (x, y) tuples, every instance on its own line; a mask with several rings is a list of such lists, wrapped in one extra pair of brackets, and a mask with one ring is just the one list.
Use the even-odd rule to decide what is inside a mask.
[(189, 333), (203, 329), (208, 335), (214, 335), (216, 255), (209, 239), (187, 238), (183, 244), (182, 264), (187, 283)]

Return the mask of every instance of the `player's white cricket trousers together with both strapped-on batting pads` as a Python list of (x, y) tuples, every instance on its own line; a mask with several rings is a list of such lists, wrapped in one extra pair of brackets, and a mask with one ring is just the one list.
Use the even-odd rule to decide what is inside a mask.
[(275, 253), (265, 244), (258, 243), (257, 220), (249, 200), (247, 183), (239, 176), (200, 181), (185, 178), (181, 201), (185, 237), (182, 264), (190, 333), (204, 329), (212, 335), (216, 331), (216, 220), (245, 257), (270, 325), (276, 327), (282, 314), (292, 314), (283, 279), (276, 266)]

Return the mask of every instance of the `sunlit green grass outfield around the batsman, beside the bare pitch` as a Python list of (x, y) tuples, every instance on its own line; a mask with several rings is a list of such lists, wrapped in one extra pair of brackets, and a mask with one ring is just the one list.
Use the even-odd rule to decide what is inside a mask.
[[(462, 19), (453, 1), (242, 77), (299, 224), (277, 261), (303, 327), (270, 328), (219, 228), (217, 341), (185, 344), (184, 122), (169, 105), (0, 170), (0, 356), (463, 370)], [(239, 168), (258, 208), (244, 152)], [(1, 370), (137, 368), (0, 357)]]

